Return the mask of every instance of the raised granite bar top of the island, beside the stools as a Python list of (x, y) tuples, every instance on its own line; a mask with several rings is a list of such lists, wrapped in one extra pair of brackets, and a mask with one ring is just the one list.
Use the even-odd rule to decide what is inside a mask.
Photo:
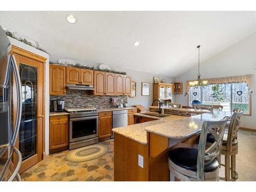
[(214, 114), (204, 113), (178, 120), (168, 120), (148, 126), (145, 128), (145, 131), (168, 138), (182, 139), (200, 132), (204, 121), (218, 121), (226, 116), (231, 117), (232, 112), (216, 111)]

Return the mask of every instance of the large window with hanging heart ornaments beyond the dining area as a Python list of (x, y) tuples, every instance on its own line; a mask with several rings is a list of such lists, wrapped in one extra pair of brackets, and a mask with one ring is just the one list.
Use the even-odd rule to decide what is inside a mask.
[(223, 105), (223, 110), (230, 112), (239, 108), (244, 114), (250, 114), (250, 94), (246, 82), (210, 84), (205, 87), (189, 88), (189, 105), (193, 100), (202, 104)]

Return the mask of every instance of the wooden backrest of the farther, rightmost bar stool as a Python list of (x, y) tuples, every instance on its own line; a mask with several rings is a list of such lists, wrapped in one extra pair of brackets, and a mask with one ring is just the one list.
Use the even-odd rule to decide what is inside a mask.
[(232, 151), (232, 141), (235, 137), (237, 137), (238, 130), (241, 124), (241, 119), (244, 113), (240, 109), (234, 109), (233, 111), (234, 113), (231, 117), (230, 124), (228, 127), (227, 144), (226, 144), (227, 151)]

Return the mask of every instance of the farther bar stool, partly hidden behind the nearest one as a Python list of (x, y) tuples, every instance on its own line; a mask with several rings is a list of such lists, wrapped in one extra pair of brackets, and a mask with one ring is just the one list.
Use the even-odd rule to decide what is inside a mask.
[[(225, 130), (223, 136), (223, 142), (221, 147), (221, 155), (225, 156), (225, 178), (221, 178), (225, 181), (236, 181), (238, 179), (238, 173), (236, 171), (236, 155), (238, 154), (238, 129), (241, 124), (241, 118), (243, 111), (240, 109), (233, 110), (234, 113), (231, 117), (228, 129)], [(215, 139), (208, 134), (207, 135), (207, 144), (215, 142)], [(231, 159), (231, 166), (230, 166)], [(231, 178), (230, 178), (231, 170)]]

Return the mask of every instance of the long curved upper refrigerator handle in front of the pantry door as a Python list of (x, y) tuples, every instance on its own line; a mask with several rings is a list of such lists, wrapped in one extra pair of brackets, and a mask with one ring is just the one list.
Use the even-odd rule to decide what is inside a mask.
[(16, 111), (16, 121), (14, 132), (11, 138), (11, 145), (14, 146), (18, 137), (20, 119), (22, 118), (22, 83), (20, 82), (18, 67), (14, 55), (10, 55), (10, 60), (13, 67), (14, 77), (16, 81), (16, 91), (17, 91), (17, 111)]

